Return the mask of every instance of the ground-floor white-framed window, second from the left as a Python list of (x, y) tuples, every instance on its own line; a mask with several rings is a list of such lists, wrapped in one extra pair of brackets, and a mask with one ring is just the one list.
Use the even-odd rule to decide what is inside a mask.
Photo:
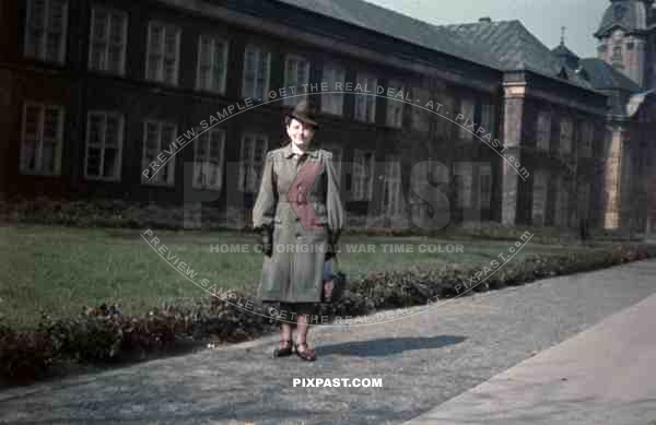
[(120, 180), (124, 137), (121, 114), (90, 111), (86, 116), (84, 177)]

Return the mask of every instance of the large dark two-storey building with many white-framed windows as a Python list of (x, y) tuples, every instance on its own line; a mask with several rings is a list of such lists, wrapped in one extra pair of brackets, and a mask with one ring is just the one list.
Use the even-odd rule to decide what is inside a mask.
[[(350, 216), (648, 225), (649, 1), (612, 1), (596, 34), (606, 51), (618, 28), (629, 37), (621, 67), (601, 47), (599, 59), (564, 44), (552, 51), (518, 21), (435, 26), (361, 0), (1, 8), (5, 198), (204, 199), (248, 210), (262, 155), (279, 145), (283, 111), (298, 99), (271, 91), (342, 83), (342, 93), (311, 95), (323, 123), (317, 143), (342, 162)], [(183, 134), (235, 105), (256, 107), (159, 163)], [(433, 163), (410, 172), (425, 160)]]

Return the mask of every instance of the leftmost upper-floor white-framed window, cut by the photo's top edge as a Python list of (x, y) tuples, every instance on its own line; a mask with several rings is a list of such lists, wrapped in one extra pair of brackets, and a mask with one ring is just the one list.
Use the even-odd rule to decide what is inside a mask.
[(63, 63), (66, 56), (67, 0), (27, 0), (25, 56)]

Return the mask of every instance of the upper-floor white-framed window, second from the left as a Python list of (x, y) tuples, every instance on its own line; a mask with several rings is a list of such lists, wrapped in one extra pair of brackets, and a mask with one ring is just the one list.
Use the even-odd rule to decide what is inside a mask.
[(91, 11), (89, 69), (125, 74), (128, 14), (104, 8)]

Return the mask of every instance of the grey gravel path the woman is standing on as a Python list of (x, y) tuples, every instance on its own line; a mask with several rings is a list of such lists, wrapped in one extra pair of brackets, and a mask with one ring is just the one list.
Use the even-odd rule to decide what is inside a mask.
[[(642, 261), (390, 323), (315, 328), (315, 363), (270, 358), (268, 338), (5, 390), (0, 423), (399, 424), (645, 298), (655, 275), (656, 261)], [(293, 378), (382, 378), (383, 388), (302, 388)]]

